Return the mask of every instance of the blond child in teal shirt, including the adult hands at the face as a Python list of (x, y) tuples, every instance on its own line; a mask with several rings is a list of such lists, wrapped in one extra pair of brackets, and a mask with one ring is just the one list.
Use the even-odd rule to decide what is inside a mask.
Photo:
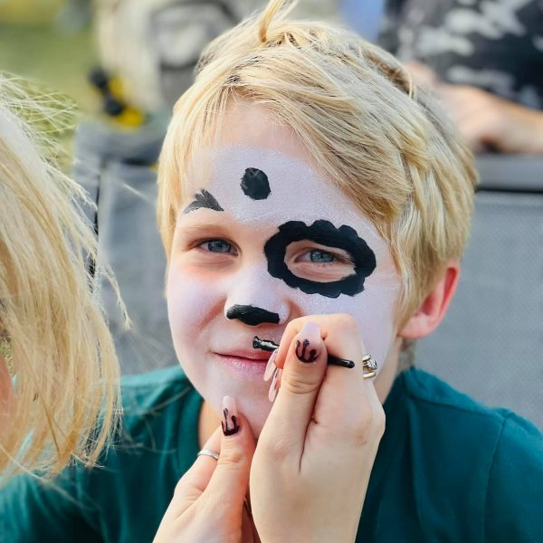
[(167, 133), (185, 374), (126, 380), (104, 469), (14, 481), (8, 540), (539, 537), (537, 429), (400, 363), (452, 298), (472, 156), (393, 57), (287, 14), (214, 41)]

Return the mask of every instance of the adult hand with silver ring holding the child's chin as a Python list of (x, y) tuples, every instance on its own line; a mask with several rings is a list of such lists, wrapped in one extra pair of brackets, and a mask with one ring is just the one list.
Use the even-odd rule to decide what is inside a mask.
[(224, 398), (224, 410), (224, 431), (217, 428), (204, 446), (209, 451), (220, 451), (218, 461), (205, 455), (196, 458), (177, 483), (155, 543), (258, 541), (243, 506), (254, 439), (232, 397)]

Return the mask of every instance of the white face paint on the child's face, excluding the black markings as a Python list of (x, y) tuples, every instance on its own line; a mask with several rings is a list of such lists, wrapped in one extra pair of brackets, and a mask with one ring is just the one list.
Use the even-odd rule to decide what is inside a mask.
[[(266, 174), (271, 189), (267, 197), (255, 200), (245, 194), (241, 185), (247, 168)], [(203, 188), (222, 211), (191, 205)], [(258, 335), (279, 343), (286, 324), (303, 315), (352, 315), (367, 352), (383, 365), (395, 338), (400, 282), (386, 242), (343, 192), (300, 158), (238, 145), (200, 154), (188, 176), (186, 194), (170, 257), (168, 312), (181, 365), (217, 413), (223, 396), (234, 395), (253, 432), (260, 433), (271, 407), (269, 384), (262, 381), (269, 353), (252, 349), (252, 338)], [(307, 226), (328, 221), (335, 229), (354, 229), (375, 254), (376, 267), (366, 277), (363, 291), (330, 298), (273, 277), (264, 248), (281, 225), (292, 221)], [(315, 255), (318, 261), (322, 256), (329, 260), (330, 253), (341, 259), (352, 256), (334, 243), (305, 240), (291, 243), (283, 262), (296, 276), (326, 288), (354, 270), (352, 262), (312, 260)], [(236, 305), (277, 314), (279, 322), (250, 326), (228, 319), (228, 310)], [(260, 363), (248, 357), (260, 358)]]

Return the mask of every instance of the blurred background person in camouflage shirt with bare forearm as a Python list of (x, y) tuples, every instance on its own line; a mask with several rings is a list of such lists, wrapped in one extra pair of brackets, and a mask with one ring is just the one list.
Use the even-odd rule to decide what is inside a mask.
[(478, 152), (543, 153), (540, 0), (388, 0), (380, 44)]

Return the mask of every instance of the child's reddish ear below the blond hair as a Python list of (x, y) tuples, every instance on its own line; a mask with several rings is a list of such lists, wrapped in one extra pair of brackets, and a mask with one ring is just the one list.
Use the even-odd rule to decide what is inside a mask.
[(418, 310), (398, 332), (400, 338), (424, 338), (439, 326), (456, 291), (459, 275), (460, 262), (449, 262), (442, 279), (435, 284)]

